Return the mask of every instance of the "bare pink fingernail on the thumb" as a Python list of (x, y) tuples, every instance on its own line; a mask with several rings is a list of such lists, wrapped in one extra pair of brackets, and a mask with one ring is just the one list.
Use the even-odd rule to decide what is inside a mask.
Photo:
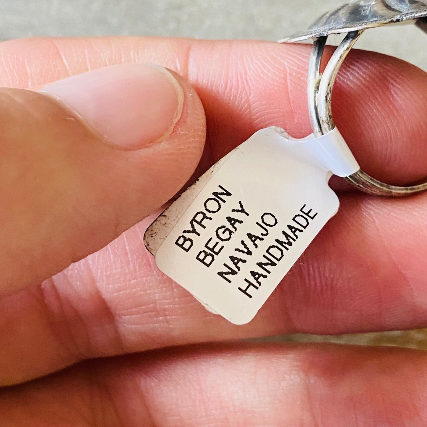
[(167, 138), (182, 114), (184, 91), (165, 68), (113, 65), (45, 86), (106, 140), (140, 149)]

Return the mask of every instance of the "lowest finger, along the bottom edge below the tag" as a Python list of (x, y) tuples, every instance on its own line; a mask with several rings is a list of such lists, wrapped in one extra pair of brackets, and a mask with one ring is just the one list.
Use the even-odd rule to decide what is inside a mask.
[(424, 352), (394, 348), (181, 348), (85, 363), (3, 389), (0, 420), (16, 427), (421, 427), (426, 375)]

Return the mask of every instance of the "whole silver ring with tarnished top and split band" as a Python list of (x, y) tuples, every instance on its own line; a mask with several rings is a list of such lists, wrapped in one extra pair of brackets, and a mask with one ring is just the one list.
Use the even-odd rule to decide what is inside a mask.
[[(306, 32), (279, 41), (293, 43), (313, 38), (308, 75), (308, 105), (315, 136), (324, 135), (335, 128), (331, 110), (333, 85), (342, 63), (362, 33), (369, 28), (403, 20), (414, 20), (427, 33), (426, 17), (427, 0), (353, 0), (322, 15)], [(346, 33), (346, 36), (321, 74), (320, 64), (328, 36), (340, 33)], [(362, 170), (345, 179), (365, 193), (376, 196), (401, 197), (427, 190), (427, 182), (399, 187), (378, 181)]]

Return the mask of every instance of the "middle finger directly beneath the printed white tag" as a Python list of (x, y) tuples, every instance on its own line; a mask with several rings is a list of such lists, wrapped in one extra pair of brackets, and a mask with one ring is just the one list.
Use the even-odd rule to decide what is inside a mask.
[[(339, 216), (244, 326), (208, 313), (161, 275), (144, 252), (149, 221), (137, 225), (41, 287), (0, 299), (0, 383), (22, 382), (86, 358), (185, 343), (426, 325), (427, 243), (412, 247), (413, 236), (427, 229), (427, 198), (409, 205), (381, 199), (377, 206), (366, 196), (342, 202)], [(402, 219), (406, 234), (397, 241)], [(387, 242), (383, 257), (377, 257), (380, 242)]]

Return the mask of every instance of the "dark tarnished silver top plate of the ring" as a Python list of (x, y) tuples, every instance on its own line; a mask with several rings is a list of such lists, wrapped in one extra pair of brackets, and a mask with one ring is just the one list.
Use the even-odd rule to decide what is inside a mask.
[(353, 0), (325, 13), (309, 29), (281, 42), (293, 43), (427, 17), (427, 0)]

